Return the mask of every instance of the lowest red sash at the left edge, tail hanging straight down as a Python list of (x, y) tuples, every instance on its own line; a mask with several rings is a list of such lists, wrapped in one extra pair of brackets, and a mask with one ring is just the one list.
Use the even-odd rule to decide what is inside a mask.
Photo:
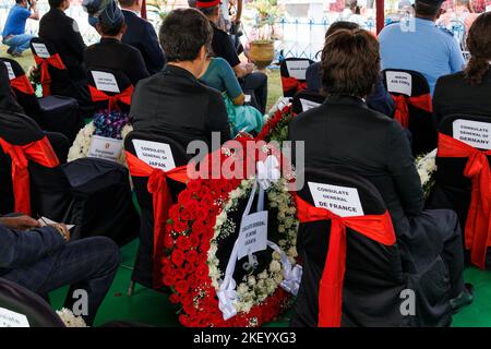
[(31, 182), (27, 170), (28, 160), (53, 168), (60, 165), (48, 139), (13, 145), (0, 139), (0, 146), (12, 159), (12, 184), (15, 198), (15, 212), (31, 215)]

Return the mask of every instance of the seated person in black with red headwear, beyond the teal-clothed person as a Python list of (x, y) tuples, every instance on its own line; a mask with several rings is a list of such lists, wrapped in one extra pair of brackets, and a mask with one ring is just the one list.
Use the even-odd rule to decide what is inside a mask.
[(247, 94), (253, 94), (258, 101), (258, 107), (262, 113), (266, 112), (267, 103), (267, 75), (261, 72), (253, 72), (253, 64), (241, 64), (230, 36), (217, 27), (220, 16), (219, 0), (197, 1), (196, 5), (201, 12), (212, 23), (213, 40), (212, 49), (216, 57), (224, 58), (233, 69), (237, 77), (241, 79), (242, 89)]

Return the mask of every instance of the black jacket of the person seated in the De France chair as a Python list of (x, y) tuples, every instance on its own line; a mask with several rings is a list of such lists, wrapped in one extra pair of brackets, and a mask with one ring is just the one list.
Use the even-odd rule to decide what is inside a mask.
[(409, 231), (406, 216), (421, 214), (424, 197), (407, 135), (361, 99), (328, 97), (291, 121), (289, 139), (306, 141), (306, 168), (349, 171), (371, 181), (397, 234)]

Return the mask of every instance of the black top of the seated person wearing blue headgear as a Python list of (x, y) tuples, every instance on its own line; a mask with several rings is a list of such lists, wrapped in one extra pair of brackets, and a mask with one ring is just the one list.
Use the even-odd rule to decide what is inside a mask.
[(99, 68), (124, 73), (133, 86), (148, 76), (142, 53), (134, 47), (112, 38), (101, 38), (100, 43), (87, 47), (84, 61), (87, 70)]

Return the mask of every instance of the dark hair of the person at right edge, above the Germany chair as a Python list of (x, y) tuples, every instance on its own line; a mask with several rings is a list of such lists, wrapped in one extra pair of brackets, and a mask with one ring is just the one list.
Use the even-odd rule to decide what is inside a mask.
[(466, 80), (471, 85), (479, 85), (489, 70), (491, 61), (491, 12), (484, 12), (472, 23), (467, 37), (470, 60), (466, 67)]

